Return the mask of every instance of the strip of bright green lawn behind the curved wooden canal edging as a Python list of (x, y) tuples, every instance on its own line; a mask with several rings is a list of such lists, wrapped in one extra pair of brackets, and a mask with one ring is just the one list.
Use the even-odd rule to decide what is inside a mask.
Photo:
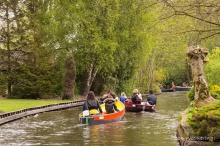
[(73, 100), (31, 100), (31, 99), (1, 99), (0, 112), (11, 112), (30, 107), (44, 106), (61, 102), (69, 102)]

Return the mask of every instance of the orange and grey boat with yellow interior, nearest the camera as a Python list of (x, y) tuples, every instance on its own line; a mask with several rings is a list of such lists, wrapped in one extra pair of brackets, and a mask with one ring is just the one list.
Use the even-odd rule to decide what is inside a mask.
[(89, 114), (86, 115), (82, 113), (79, 114), (79, 120), (81, 124), (86, 125), (97, 125), (97, 124), (105, 124), (109, 122), (120, 121), (125, 114), (125, 106), (119, 100), (116, 100), (116, 106), (119, 112), (106, 114), (105, 104), (100, 105), (102, 108), (102, 114), (100, 114), (97, 110), (90, 110)]

